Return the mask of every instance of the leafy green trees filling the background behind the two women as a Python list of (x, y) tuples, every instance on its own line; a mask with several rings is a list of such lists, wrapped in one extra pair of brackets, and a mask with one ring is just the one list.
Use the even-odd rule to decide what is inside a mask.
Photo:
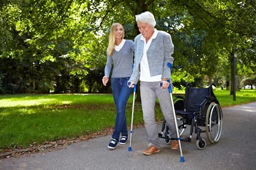
[(234, 53), (237, 80), (246, 85), (256, 69), (255, 9), (253, 0), (4, 0), (0, 94), (110, 92), (101, 83), (109, 27), (120, 22), (134, 39), (134, 16), (144, 11), (172, 36), (175, 87), (230, 86)]

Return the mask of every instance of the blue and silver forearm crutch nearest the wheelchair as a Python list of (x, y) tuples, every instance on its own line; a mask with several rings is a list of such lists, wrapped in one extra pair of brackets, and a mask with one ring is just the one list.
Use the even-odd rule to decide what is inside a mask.
[[(167, 66), (170, 68), (172, 68), (171, 63), (167, 63)], [(168, 82), (170, 83), (170, 80), (168, 80)], [(169, 93), (170, 93), (170, 97), (171, 97), (171, 103), (172, 103), (172, 111), (173, 111), (173, 117), (174, 117), (174, 122), (175, 122), (175, 127), (176, 127), (176, 131), (177, 131), (177, 137), (178, 137), (178, 141), (179, 141), (179, 146), (180, 146), (180, 162), (185, 162), (185, 159), (182, 155), (182, 149), (181, 149), (181, 143), (180, 143), (180, 133), (179, 133), (179, 129), (178, 129), (178, 125), (177, 125), (177, 120), (176, 120), (176, 114), (174, 111), (174, 104), (173, 104), (173, 99), (172, 99), (172, 87), (171, 87), (171, 83), (169, 84)]]

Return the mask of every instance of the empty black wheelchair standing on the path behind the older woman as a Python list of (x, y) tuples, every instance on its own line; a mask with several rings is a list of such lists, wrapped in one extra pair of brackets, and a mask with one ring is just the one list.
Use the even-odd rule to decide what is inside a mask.
[[(220, 139), (222, 130), (222, 110), (219, 101), (215, 97), (211, 83), (208, 88), (193, 88), (192, 84), (186, 84), (185, 97), (175, 96), (173, 99), (177, 125), (180, 137), (190, 126), (189, 137), (180, 138), (180, 141), (191, 142), (193, 132), (196, 136), (196, 147), (204, 149), (206, 147), (205, 140), (201, 137), (201, 133), (206, 133), (210, 143), (215, 143)], [(164, 138), (166, 144), (170, 144), (171, 138), (169, 127), (166, 121), (163, 121), (162, 132), (158, 133), (159, 138)]]

